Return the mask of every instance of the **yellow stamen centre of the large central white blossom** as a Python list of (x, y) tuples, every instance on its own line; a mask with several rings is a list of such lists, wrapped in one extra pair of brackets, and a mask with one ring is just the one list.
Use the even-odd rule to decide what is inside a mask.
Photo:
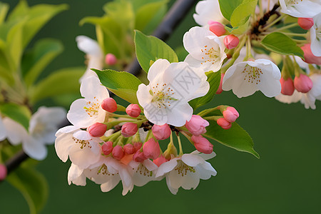
[(149, 93), (153, 96), (152, 102), (156, 103), (158, 108), (169, 108), (170, 103), (177, 101), (173, 98), (175, 91), (168, 87), (166, 83), (157, 83)]

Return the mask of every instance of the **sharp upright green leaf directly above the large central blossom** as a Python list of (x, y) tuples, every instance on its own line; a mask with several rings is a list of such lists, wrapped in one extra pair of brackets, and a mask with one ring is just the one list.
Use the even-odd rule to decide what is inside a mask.
[(138, 62), (144, 71), (148, 72), (151, 61), (165, 58), (170, 63), (178, 62), (175, 51), (161, 39), (155, 36), (146, 36), (141, 31), (135, 31), (135, 46)]

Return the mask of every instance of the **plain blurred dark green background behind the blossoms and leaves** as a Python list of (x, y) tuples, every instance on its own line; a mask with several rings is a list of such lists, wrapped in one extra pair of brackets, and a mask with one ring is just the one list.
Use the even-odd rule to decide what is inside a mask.
[[(4, 1), (11, 9), (18, 0)], [(36, 36), (56, 38), (65, 50), (47, 68), (48, 72), (69, 66), (83, 66), (84, 54), (78, 51), (75, 37), (95, 38), (94, 26), (79, 26), (84, 16), (103, 15), (101, 0), (30, 0), (29, 5), (46, 3), (70, 6), (54, 17)], [(183, 34), (195, 26), (193, 11), (169, 39), (173, 48), (182, 45)], [(279, 103), (257, 92), (237, 98), (231, 91), (215, 96), (209, 106), (234, 106), (238, 123), (250, 133), (260, 159), (214, 143), (217, 154), (210, 160), (218, 175), (201, 180), (196, 190), (172, 195), (165, 180), (135, 187), (121, 195), (121, 185), (102, 193), (99, 185), (69, 186), (70, 162), (63, 163), (49, 147), (49, 156), (37, 165), (49, 182), (49, 200), (41, 213), (321, 213), (321, 102), (317, 110), (306, 110), (300, 103)], [(0, 184), (0, 213), (29, 213), (18, 190)]]

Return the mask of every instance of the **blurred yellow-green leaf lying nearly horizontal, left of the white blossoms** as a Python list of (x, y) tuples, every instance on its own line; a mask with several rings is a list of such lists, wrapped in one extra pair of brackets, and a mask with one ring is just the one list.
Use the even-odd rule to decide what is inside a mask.
[(30, 101), (36, 103), (36, 101), (42, 98), (48, 98), (53, 96), (59, 96), (66, 93), (78, 93), (79, 92), (79, 78), (86, 71), (86, 68), (63, 68), (55, 71), (47, 78), (30, 88)]

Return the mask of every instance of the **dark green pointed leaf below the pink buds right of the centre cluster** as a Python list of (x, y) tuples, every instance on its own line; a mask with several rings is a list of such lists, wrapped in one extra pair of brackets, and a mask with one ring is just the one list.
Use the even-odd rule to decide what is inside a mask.
[(218, 126), (216, 121), (210, 121), (210, 126), (206, 127), (206, 130), (207, 132), (203, 136), (212, 138), (237, 151), (251, 153), (253, 156), (260, 158), (259, 154), (254, 151), (252, 138), (238, 123), (232, 123), (232, 127), (225, 130)]

